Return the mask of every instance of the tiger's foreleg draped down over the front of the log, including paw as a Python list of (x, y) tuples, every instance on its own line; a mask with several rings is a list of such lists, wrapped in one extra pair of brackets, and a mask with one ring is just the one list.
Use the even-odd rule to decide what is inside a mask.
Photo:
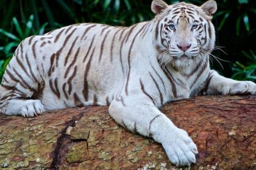
[(142, 96), (129, 94), (116, 97), (110, 104), (110, 115), (129, 131), (152, 137), (161, 143), (175, 165), (195, 163), (198, 151), (187, 132), (176, 127), (149, 98)]

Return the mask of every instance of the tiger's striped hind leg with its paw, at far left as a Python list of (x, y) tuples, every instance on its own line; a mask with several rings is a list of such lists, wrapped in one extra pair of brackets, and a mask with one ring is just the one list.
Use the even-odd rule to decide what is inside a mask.
[[(43, 104), (38, 100), (43, 89), (35, 64), (27, 66), (28, 57), (21, 55), (19, 48), (5, 70), (0, 85), (0, 113), (34, 117), (44, 112)], [(33, 64), (33, 65), (32, 65)]]

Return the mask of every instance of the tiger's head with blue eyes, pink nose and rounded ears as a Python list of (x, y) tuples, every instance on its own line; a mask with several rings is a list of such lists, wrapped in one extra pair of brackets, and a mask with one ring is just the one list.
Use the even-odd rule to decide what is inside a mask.
[(187, 67), (212, 52), (215, 28), (211, 19), (217, 10), (215, 1), (198, 7), (185, 2), (168, 5), (162, 0), (154, 0), (151, 10), (157, 21), (154, 36), (157, 50), (162, 54), (158, 60), (162, 63)]

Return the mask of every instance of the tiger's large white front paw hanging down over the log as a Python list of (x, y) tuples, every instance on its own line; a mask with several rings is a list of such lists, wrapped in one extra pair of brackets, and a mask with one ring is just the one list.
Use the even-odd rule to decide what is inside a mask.
[(176, 166), (190, 166), (191, 163), (196, 163), (197, 147), (186, 131), (176, 127), (174, 132), (166, 136), (162, 145), (169, 160)]

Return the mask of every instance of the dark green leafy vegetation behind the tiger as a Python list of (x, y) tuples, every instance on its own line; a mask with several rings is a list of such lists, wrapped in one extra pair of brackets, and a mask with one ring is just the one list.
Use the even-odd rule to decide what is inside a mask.
[[(201, 5), (205, 0), (185, 2)], [(213, 55), (220, 58), (224, 69), (214, 58), (212, 67), (226, 77), (256, 81), (256, 1), (218, 0), (217, 3), (213, 24), (218, 47)], [(150, 0), (1, 0), (0, 82), (14, 50), (27, 36), (80, 22), (129, 26), (153, 17)]]

